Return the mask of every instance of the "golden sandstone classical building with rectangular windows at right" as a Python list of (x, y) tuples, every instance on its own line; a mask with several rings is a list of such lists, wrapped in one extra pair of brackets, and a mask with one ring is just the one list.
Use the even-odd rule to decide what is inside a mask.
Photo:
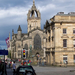
[(75, 12), (59, 12), (44, 26), (48, 64), (75, 64)]

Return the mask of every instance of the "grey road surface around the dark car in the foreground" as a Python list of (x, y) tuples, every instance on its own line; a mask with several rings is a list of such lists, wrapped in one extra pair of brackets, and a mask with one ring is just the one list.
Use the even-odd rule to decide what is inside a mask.
[[(17, 64), (18, 66), (19, 64)], [(75, 75), (75, 67), (39, 67), (33, 66), (37, 75)], [(13, 75), (11, 69), (7, 69), (7, 75)]]

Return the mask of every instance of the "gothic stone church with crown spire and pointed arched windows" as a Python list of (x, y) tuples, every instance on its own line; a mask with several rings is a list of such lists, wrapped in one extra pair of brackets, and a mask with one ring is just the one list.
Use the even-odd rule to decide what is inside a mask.
[(37, 57), (37, 54), (41, 57), (45, 57), (45, 38), (46, 34), (44, 30), (41, 29), (41, 14), (35, 6), (35, 1), (33, 0), (33, 5), (27, 14), (28, 22), (28, 33), (22, 33), (21, 26), (19, 25), (17, 34), (12, 30), (12, 40), (11, 40), (11, 58), (22, 58), (23, 48), (27, 50), (26, 57)]

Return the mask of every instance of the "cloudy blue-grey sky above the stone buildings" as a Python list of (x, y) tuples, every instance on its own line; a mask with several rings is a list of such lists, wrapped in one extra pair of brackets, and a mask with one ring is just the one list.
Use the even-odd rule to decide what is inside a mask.
[[(5, 39), (12, 36), (12, 29), (17, 33), (21, 26), (22, 33), (27, 33), (27, 13), (33, 0), (0, 0), (0, 49), (7, 49)], [(75, 12), (75, 0), (35, 0), (36, 8), (41, 13), (41, 29), (58, 12)]]

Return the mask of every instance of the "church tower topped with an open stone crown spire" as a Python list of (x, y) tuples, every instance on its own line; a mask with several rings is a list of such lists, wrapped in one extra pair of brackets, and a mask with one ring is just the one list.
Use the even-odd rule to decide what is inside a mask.
[(37, 10), (35, 6), (35, 1), (33, 0), (33, 5), (27, 14), (28, 32), (30, 32), (33, 29), (40, 28), (40, 20), (41, 14), (39, 10)]

